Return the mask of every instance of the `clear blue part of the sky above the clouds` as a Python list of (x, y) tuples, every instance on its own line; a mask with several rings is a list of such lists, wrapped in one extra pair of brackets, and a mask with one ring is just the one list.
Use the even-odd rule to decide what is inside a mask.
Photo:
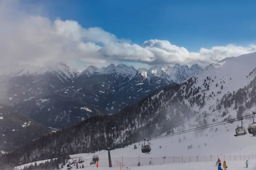
[[(30, 3), (35, 3), (34, 0)], [(256, 41), (256, 1), (247, 0), (37, 0), (54, 20), (102, 27), (142, 44), (168, 40), (189, 51)]]

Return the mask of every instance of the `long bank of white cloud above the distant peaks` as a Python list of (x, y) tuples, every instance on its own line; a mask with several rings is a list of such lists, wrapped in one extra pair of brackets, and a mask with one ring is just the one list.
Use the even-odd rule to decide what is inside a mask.
[[(122, 40), (102, 28), (82, 28), (73, 20), (50, 20), (22, 10), (19, 1), (0, 0), (0, 59), (2, 63), (17, 62), (42, 65), (48, 60), (79, 67), (88, 63), (111, 62), (143, 64), (194, 64), (203, 66), (225, 57), (256, 51), (248, 47), (227, 45), (189, 52), (166, 40), (148, 40), (142, 45)], [(84, 64), (77, 61), (84, 62)]]

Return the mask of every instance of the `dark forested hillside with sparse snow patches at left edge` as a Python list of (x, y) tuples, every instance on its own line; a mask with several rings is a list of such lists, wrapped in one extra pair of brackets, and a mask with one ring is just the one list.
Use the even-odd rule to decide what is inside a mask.
[(50, 128), (0, 104), (0, 155), (49, 132)]

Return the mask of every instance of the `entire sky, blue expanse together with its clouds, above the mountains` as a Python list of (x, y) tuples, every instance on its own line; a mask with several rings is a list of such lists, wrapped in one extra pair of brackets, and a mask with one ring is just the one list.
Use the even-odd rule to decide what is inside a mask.
[(253, 0), (2, 1), (2, 53), (19, 63), (206, 66), (256, 51)]

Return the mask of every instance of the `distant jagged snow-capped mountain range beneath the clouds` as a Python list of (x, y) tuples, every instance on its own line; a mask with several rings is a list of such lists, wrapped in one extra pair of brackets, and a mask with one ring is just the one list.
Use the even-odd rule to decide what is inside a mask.
[(63, 62), (49, 61), (41, 67), (9, 65), (2, 69), (0, 102), (60, 128), (90, 116), (117, 113), (158, 88), (183, 81), (201, 67), (176, 64), (136, 70), (111, 64), (100, 69), (89, 66), (79, 73)]

